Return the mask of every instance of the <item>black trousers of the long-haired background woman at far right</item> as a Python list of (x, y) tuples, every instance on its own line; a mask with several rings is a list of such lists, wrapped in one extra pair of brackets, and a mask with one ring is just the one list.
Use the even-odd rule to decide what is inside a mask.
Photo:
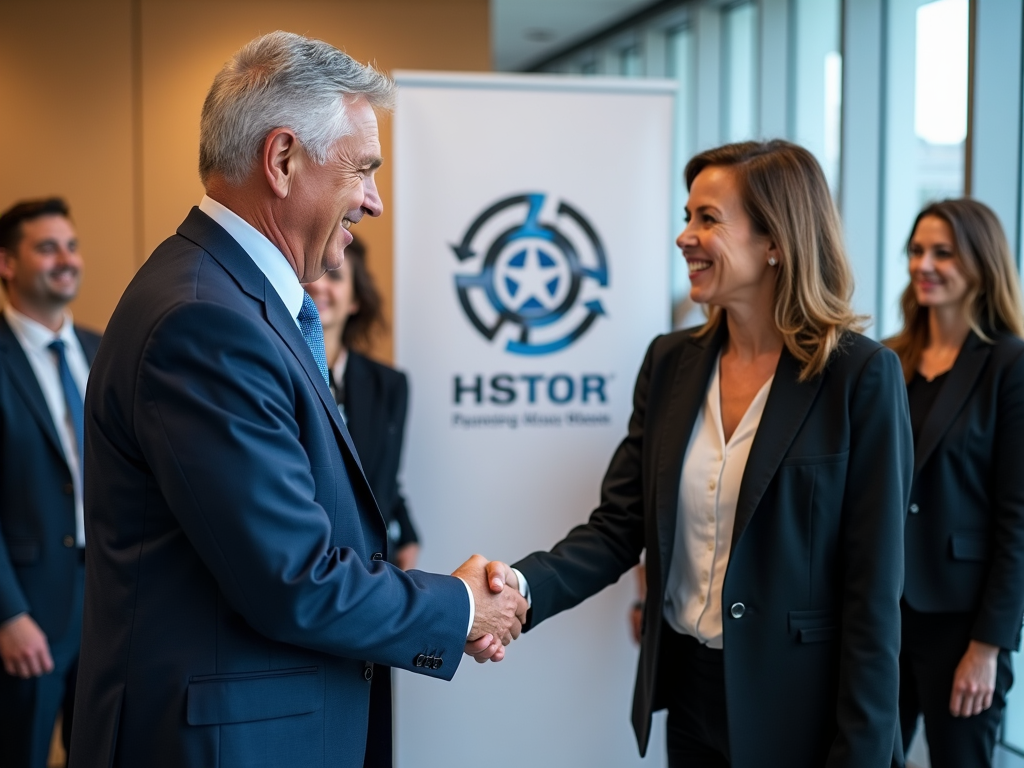
[(932, 768), (991, 768), (995, 735), (1014, 675), (1010, 651), (999, 650), (992, 706), (969, 718), (949, 714), (953, 674), (971, 641), (970, 613), (921, 613), (905, 603), (899, 657), (899, 718), (903, 749), (925, 716)]

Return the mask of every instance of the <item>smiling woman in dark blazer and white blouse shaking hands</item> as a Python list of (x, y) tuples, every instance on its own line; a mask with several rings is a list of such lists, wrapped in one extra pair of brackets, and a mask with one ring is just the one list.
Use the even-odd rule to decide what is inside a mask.
[(492, 574), (528, 594), (529, 630), (646, 549), (641, 753), (668, 708), (673, 767), (889, 768), (912, 464), (899, 360), (856, 333), (810, 153), (730, 144), (686, 182), (677, 243), (709, 321), (650, 345), (589, 522)]

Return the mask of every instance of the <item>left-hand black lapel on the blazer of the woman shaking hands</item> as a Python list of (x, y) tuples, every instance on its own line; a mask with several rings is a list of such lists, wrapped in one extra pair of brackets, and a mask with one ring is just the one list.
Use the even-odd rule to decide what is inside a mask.
[(715, 360), (726, 338), (726, 325), (719, 324), (710, 337), (687, 339), (676, 362), (672, 394), (665, 421), (660, 425), (657, 446), (657, 480), (654, 509), (657, 519), (658, 550), (662, 562), (662, 583), (668, 578), (672, 547), (679, 517), (679, 482), (683, 473), (683, 458), (689, 444), (697, 414), (708, 395), (708, 382)]

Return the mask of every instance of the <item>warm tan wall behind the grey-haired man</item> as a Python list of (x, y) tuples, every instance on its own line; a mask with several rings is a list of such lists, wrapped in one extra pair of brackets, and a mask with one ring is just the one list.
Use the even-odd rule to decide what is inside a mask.
[[(131, 275), (203, 194), (199, 115), (220, 66), (275, 29), (395, 69), (489, 69), (486, 0), (0, 0), (0, 208), (65, 196), (82, 241), (76, 318), (103, 327)], [(358, 226), (390, 315), (389, 121), (384, 216)], [(390, 336), (374, 352), (390, 359)]]

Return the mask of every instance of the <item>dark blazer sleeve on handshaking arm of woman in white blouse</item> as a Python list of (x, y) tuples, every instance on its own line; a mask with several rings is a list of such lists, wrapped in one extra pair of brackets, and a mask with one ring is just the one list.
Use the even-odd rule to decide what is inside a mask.
[(550, 552), (535, 552), (513, 567), (529, 583), (530, 612), (524, 629), (600, 592), (640, 561), (644, 547), (643, 444), (647, 391), (655, 339), (647, 349), (633, 393), (629, 431), (601, 483), (601, 504)]

